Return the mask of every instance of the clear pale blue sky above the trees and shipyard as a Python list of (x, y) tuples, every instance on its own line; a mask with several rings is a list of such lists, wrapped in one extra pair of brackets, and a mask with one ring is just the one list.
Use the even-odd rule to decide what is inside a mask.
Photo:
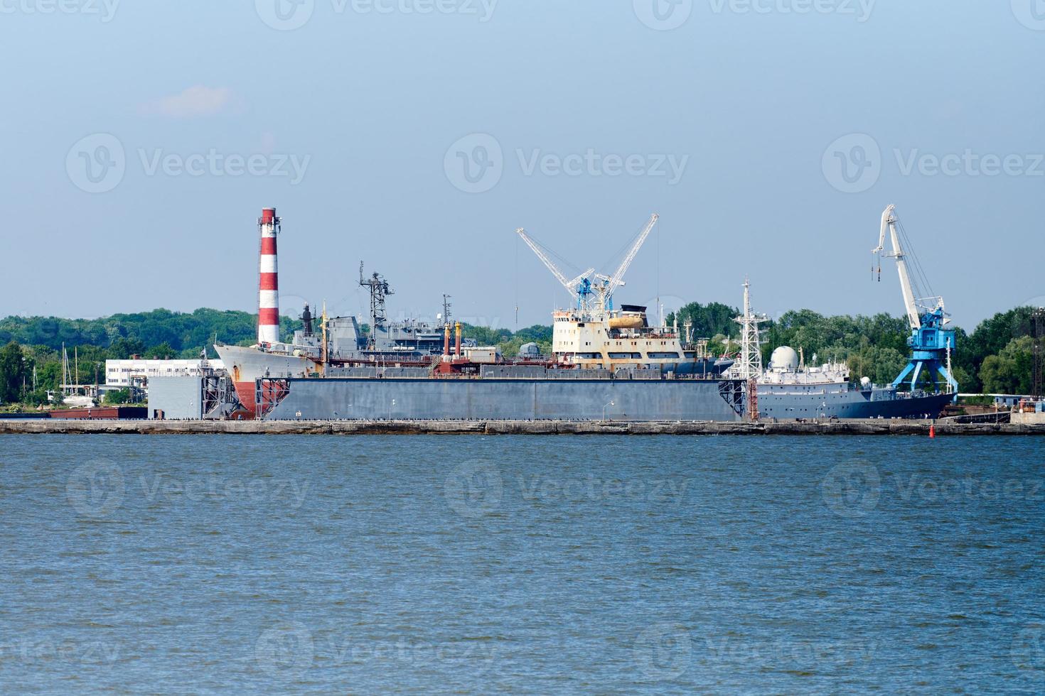
[[(257, 306), (514, 329), (619, 302), (903, 313), (888, 203), (972, 329), (1045, 304), (1042, 0), (0, 0), (0, 315)], [(570, 272), (574, 271), (574, 272)]]

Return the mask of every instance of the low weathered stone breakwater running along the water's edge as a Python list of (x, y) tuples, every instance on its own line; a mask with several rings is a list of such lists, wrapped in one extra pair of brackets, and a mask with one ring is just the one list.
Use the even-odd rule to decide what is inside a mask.
[(1045, 425), (930, 421), (0, 421), (0, 434), (142, 435), (1045, 435)]

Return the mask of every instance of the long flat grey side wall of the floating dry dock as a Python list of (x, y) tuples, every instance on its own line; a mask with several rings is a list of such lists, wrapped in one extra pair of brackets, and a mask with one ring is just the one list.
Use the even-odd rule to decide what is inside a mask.
[(740, 421), (733, 380), (285, 379), (266, 419)]

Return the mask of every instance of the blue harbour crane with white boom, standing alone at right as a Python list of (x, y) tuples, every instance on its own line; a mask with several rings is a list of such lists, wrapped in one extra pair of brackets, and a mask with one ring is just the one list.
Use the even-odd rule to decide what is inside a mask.
[[(919, 387), (919, 380), (924, 378), (930, 391), (937, 391), (937, 378), (942, 377), (948, 385), (948, 390), (957, 399), (958, 383), (951, 374), (951, 354), (954, 352), (954, 329), (948, 328), (950, 319), (944, 310), (944, 298), (940, 296), (923, 295), (921, 280), (931, 295), (932, 290), (918, 259), (910, 251), (910, 241), (904, 233), (903, 225), (897, 218), (897, 207), (889, 206), (882, 213), (882, 229), (878, 238), (878, 246), (872, 249), (875, 255), (892, 257), (897, 260), (900, 273), (900, 291), (904, 296), (904, 308), (907, 311), (907, 323), (911, 334), (907, 344), (911, 347), (911, 356), (900, 376), (892, 381), (893, 387), (904, 382), (910, 383), (911, 391)], [(892, 250), (885, 251), (885, 235), (892, 242)], [(901, 246), (901, 237), (907, 243), (908, 250)], [(907, 257), (911, 257), (912, 266), (918, 280), (912, 279), (907, 267)], [(881, 260), (878, 265), (878, 280), (882, 280)], [(909, 379), (908, 379), (909, 378)]]

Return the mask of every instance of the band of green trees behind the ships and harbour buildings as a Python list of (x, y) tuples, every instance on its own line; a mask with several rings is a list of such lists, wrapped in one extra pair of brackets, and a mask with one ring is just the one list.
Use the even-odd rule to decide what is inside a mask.
[[(691, 303), (668, 316), (681, 329), (692, 322), (694, 338), (709, 338), (715, 355), (735, 353), (740, 327), (736, 307), (721, 303)], [(301, 327), (284, 316), (281, 331), (291, 335)], [(463, 326), (465, 338), (480, 345), (497, 345), (515, 356), (524, 343), (535, 342), (543, 355), (551, 353), (552, 327), (535, 325), (518, 331)], [(780, 345), (803, 349), (808, 363), (845, 362), (854, 380), (868, 377), (891, 382), (907, 362), (910, 334), (906, 319), (888, 314), (825, 316), (803, 309), (785, 312), (763, 325), (763, 361), (768, 364)], [(225, 343), (250, 345), (256, 336), (256, 317), (240, 311), (166, 309), (114, 314), (98, 319), (9, 316), (0, 319), (0, 401), (43, 403), (46, 390), (56, 389), (62, 378), (62, 345), (70, 360), (75, 355), (78, 382), (104, 383), (104, 361), (143, 358), (195, 358), (207, 351), (215, 358), (215, 338)], [(962, 391), (1030, 393), (1034, 389), (1034, 308), (999, 312), (967, 334), (956, 330), (954, 376)], [(76, 375), (73, 376), (76, 379)]]

